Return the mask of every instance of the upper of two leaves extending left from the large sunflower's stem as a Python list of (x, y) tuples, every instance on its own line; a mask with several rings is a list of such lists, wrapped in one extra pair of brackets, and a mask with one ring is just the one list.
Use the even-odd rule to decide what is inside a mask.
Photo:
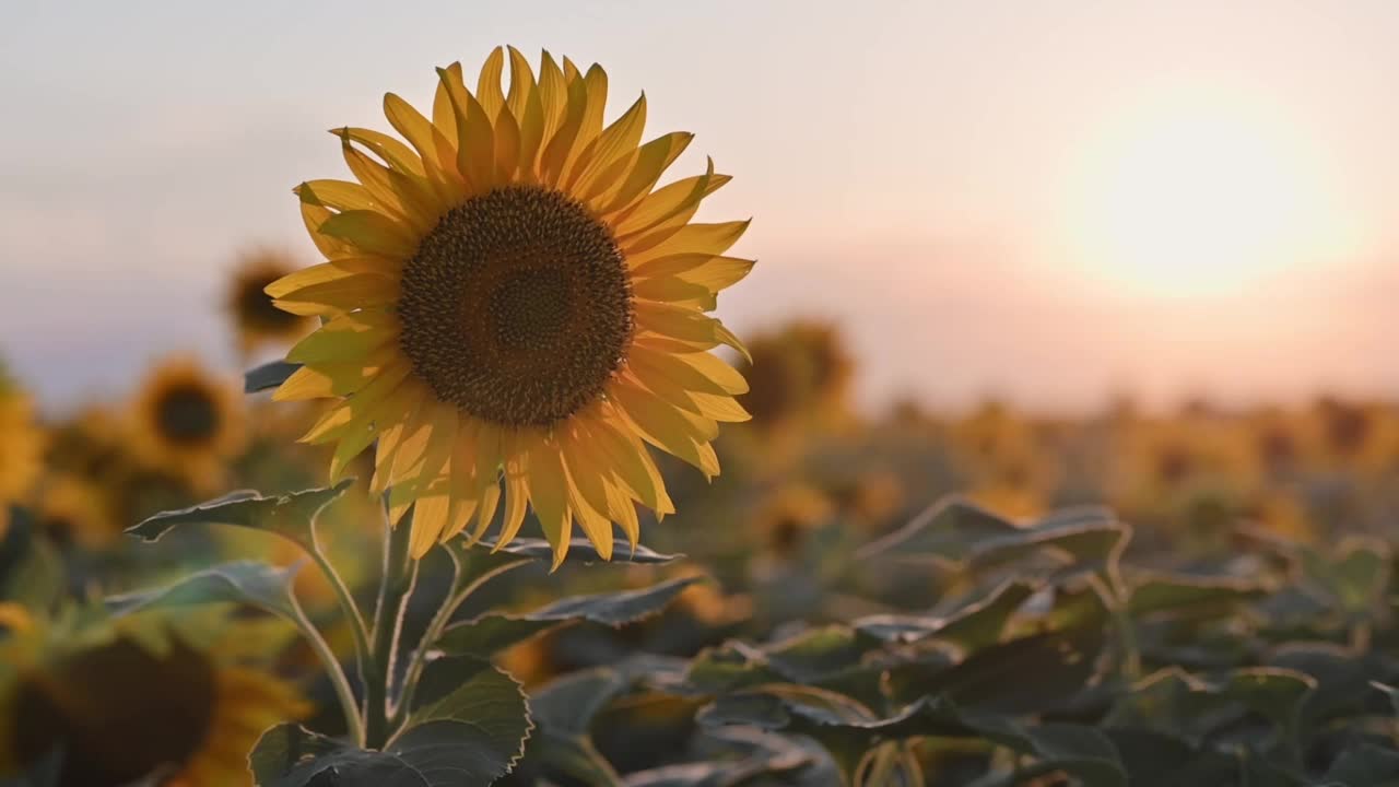
[(141, 541), (159, 541), (180, 525), (234, 525), (277, 534), (308, 552), (312, 549), (312, 522), (336, 500), (354, 479), (346, 479), (329, 489), (308, 489), (291, 494), (266, 497), (253, 490), (231, 492), (215, 500), (178, 511), (161, 511), (126, 532)]

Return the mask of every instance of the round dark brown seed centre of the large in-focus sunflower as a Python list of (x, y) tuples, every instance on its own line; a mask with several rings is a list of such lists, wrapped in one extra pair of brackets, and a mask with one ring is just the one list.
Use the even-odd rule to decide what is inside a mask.
[(539, 186), (448, 211), (402, 291), (414, 372), (438, 399), (502, 426), (550, 426), (596, 401), (631, 342), (631, 280), (611, 231)]

